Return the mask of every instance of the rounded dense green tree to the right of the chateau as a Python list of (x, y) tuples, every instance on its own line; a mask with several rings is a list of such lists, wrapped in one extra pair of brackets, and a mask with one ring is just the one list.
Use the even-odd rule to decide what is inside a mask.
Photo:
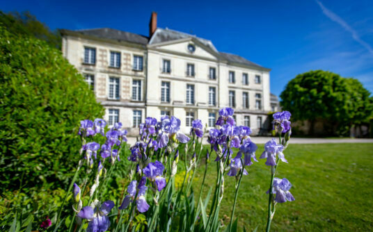
[(281, 106), (294, 120), (309, 120), (310, 134), (318, 119), (329, 134), (345, 134), (354, 124), (372, 116), (373, 98), (354, 78), (342, 78), (322, 70), (305, 72), (287, 83), (280, 94)]

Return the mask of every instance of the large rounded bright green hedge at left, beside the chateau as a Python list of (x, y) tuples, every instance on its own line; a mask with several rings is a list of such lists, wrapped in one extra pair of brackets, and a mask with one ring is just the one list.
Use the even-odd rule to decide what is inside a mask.
[(0, 25), (0, 190), (65, 188), (81, 119), (104, 108), (61, 51)]

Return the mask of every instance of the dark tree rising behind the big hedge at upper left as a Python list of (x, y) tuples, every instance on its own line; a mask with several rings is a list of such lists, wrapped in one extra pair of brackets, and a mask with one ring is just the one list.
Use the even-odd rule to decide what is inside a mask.
[(61, 50), (61, 34), (58, 31), (51, 31), (28, 11), (24, 13), (3, 13), (0, 10), (0, 24), (3, 24), (10, 33), (33, 36), (45, 40), (51, 47)]

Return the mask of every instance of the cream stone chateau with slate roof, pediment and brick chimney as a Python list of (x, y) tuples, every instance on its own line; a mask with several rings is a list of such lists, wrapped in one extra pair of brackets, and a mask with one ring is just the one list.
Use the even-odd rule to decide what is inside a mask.
[(157, 13), (149, 37), (111, 28), (61, 33), (63, 56), (84, 75), (109, 124), (136, 134), (145, 117), (174, 115), (189, 133), (193, 119), (212, 127), (219, 108), (229, 106), (237, 124), (267, 133), (271, 69), (220, 52), (210, 40), (157, 28)]

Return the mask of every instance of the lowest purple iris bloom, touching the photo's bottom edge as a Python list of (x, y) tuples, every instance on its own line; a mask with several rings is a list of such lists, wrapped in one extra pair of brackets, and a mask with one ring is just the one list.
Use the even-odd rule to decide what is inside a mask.
[(105, 201), (101, 206), (95, 208), (84, 206), (77, 216), (88, 219), (87, 232), (107, 231), (110, 226), (108, 215), (113, 207), (113, 201)]

